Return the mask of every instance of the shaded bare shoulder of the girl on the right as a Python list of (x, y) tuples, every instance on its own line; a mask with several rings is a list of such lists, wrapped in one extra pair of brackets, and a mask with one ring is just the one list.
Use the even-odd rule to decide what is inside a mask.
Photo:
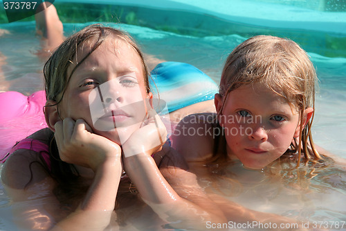
[(212, 154), (214, 119), (214, 113), (190, 114), (176, 126), (172, 147), (187, 162), (205, 160)]

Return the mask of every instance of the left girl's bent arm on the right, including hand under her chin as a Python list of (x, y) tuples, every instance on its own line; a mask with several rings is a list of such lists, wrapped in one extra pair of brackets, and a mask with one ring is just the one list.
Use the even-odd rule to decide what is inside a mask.
[[(172, 161), (174, 164), (160, 169), (161, 171), (158, 169), (153, 157), (150, 156), (158, 147), (148, 146), (148, 144), (152, 144), (151, 139), (156, 139), (157, 130), (165, 134), (161, 130), (161, 128), (164, 128), (163, 123), (161, 121), (156, 122), (156, 124), (149, 123), (140, 128), (135, 132), (136, 134), (132, 135), (122, 145), (125, 153), (125, 156), (122, 157), (125, 171), (131, 181), (134, 182), (134, 185), (136, 185), (141, 198), (152, 207), (161, 219), (170, 223), (170, 226), (174, 228), (206, 230), (206, 221), (224, 222), (225, 218), (221, 210), (217, 209), (215, 203), (212, 203), (203, 194), (194, 174), (184, 169), (186, 165), (183, 166), (183, 159), (178, 160), (178, 155), (172, 153), (173, 151), (170, 147), (165, 146), (160, 153), (155, 154), (155, 158), (161, 159), (160, 155), (166, 155), (165, 160)], [(137, 137), (137, 139), (134, 139), (134, 137)], [(163, 139), (163, 137), (161, 138)], [(143, 152), (140, 150), (143, 150)], [(137, 154), (129, 155), (129, 152)], [(163, 176), (169, 179), (183, 178), (185, 180), (183, 183), (185, 185), (188, 184), (189, 190), (191, 190), (190, 192), (193, 195), (190, 196), (189, 200), (186, 200), (180, 195), (182, 192), (174, 191), (174, 188)], [(181, 188), (177, 187), (177, 189)], [(185, 194), (183, 195), (186, 196)]]

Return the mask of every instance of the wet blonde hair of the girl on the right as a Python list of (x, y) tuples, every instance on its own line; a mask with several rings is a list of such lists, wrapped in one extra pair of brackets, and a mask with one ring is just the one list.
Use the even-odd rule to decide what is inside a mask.
[[(298, 44), (270, 35), (251, 37), (228, 55), (221, 74), (219, 94), (223, 98), (223, 104), (218, 114), (222, 113), (229, 92), (242, 85), (264, 84), (282, 96), (291, 109), (298, 110), (300, 114), (300, 135), (298, 140), (294, 139), (287, 152), (298, 153), (298, 165), (301, 153), (304, 153), (307, 161), (320, 160), (311, 137), (313, 116), (302, 127), (304, 110), (309, 107), (314, 109), (317, 81), (309, 56)], [(226, 144), (223, 140), (217, 140), (214, 155), (224, 153), (218, 148), (219, 142), (222, 146)]]

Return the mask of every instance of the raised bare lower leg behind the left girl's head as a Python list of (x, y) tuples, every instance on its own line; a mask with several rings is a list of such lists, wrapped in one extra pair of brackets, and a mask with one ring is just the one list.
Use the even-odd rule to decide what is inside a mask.
[(44, 10), (35, 15), (36, 30), (44, 38), (43, 50), (49, 52), (64, 42), (64, 28), (52, 3), (46, 1), (40, 7)]

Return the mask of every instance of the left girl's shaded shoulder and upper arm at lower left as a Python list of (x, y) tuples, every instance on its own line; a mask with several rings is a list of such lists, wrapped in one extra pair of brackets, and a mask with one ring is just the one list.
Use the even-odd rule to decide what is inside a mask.
[[(48, 140), (44, 135), (46, 130), (40, 130), (30, 138), (42, 142)], [(13, 216), (18, 221), (19, 230), (36, 230), (37, 227), (48, 230), (69, 213), (69, 210), (62, 209), (53, 193), (57, 182), (44, 166), (40, 154), (33, 150), (18, 149), (13, 152), (3, 164), (1, 181), (15, 205)], [(40, 217), (44, 219), (37, 219)]]

